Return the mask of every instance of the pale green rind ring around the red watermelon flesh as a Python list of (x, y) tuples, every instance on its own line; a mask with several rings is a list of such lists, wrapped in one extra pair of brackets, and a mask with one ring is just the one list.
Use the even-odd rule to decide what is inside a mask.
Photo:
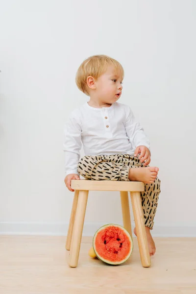
[[(97, 236), (98, 232), (101, 231), (103, 228), (105, 229), (106, 227), (109, 227), (109, 226), (116, 226), (116, 227), (121, 228), (121, 229), (126, 233), (127, 237), (128, 237), (129, 240), (130, 240), (130, 243), (131, 243), (130, 254), (128, 254), (128, 255), (127, 255), (122, 261), (112, 262), (112, 261), (110, 261), (110, 260), (107, 260), (107, 259), (101, 257), (101, 256), (98, 254), (97, 250), (96, 250), (95, 240), (96, 240), (96, 236)], [(97, 255), (97, 257), (98, 257), (99, 260), (101, 260), (101, 261), (103, 261), (103, 262), (105, 262), (105, 263), (107, 263), (107, 264), (110, 264), (110, 265), (120, 265), (120, 264), (123, 264), (125, 261), (127, 261), (127, 260), (129, 259), (129, 257), (131, 256), (131, 253), (132, 253), (132, 251), (133, 251), (133, 239), (132, 239), (131, 235), (129, 234), (129, 232), (128, 232), (128, 231), (127, 231), (122, 225), (115, 224), (115, 223), (108, 223), (108, 224), (105, 224), (105, 225), (101, 226), (101, 227), (96, 231), (96, 233), (95, 233), (95, 235), (94, 235), (94, 237), (93, 237), (93, 248), (94, 248), (94, 251), (95, 251), (95, 253), (96, 253), (96, 255)]]

